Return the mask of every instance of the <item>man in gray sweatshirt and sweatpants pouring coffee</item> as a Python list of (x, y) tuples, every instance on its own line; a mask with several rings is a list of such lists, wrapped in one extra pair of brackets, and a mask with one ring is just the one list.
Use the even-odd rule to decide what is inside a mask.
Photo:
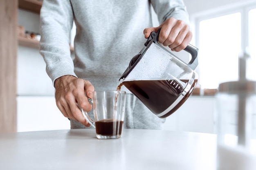
[[(152, 27), (150, 5), (158, 27)], [(73, 20), (74, 60), (69, 49)], [(161, 28), (159, 43), (173, 51), (184, 49), (192, 38), (182, 0), (44, 0), (40, 22), (40, 53), (56, 89), (56, 104), (71, 128), (90, 126), (78, 105), (90, 111), (92, 91), (115, 90), (152, 31)], [(122, 90), (127, 91), (125, 128), (162, 129), (164, 119)]]

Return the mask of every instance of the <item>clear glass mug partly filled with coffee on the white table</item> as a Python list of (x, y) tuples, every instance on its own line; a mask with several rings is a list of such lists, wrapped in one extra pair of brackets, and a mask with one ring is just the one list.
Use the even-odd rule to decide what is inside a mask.
[(94, 91), (92, 99), (94, 120), (83, 109), (85, 119), (96, 128), (98, 139), (116, 139), (122, 136), (126, 103), (125, 91)]

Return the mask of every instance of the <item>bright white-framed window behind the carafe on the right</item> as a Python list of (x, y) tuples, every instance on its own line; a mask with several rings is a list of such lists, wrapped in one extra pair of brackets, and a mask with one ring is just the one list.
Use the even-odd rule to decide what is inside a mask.
[(218, 11), (195, 21), (201, 88), (237, 81), (238, 56), (247, 49), (251, 55), (247, 78), (256, 80), (256, 7)]

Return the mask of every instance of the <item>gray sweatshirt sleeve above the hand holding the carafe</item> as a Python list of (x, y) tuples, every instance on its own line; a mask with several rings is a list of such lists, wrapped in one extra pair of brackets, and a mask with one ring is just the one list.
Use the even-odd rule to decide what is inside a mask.
[(168, 18), (183, 20), (189, 25), (189, 14), (183, 0), (150, 0), (155, 13), (157, 14), (159, 23), (163, 23)]

